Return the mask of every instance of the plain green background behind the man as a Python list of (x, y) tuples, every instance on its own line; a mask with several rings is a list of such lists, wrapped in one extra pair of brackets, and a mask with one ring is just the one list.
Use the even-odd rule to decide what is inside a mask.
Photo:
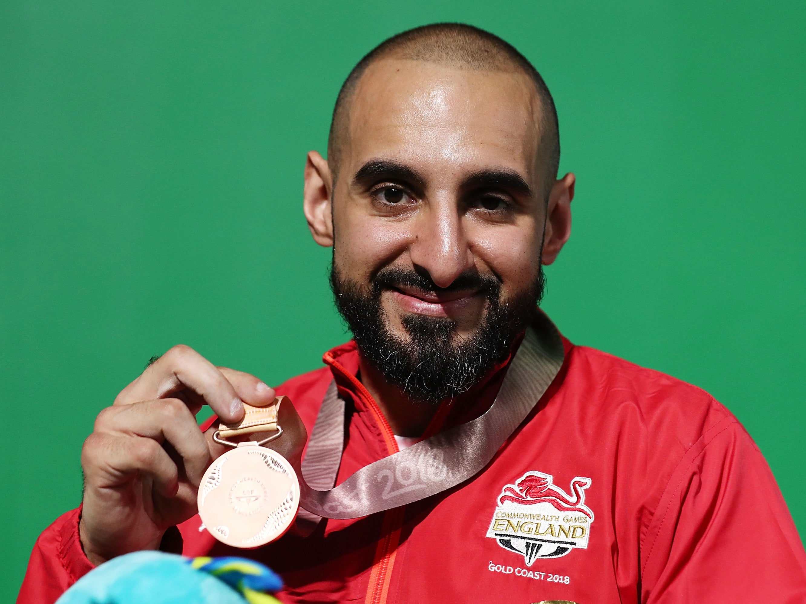
[(152, 354), (279, 383), (346, 338), (305, 152), (364, 52), (444, 20), (509, 40), (555, 95), (578, 186), (545, 308), (723, 401), (806, 530), (803, 2), (4, 0), (2, 601)]

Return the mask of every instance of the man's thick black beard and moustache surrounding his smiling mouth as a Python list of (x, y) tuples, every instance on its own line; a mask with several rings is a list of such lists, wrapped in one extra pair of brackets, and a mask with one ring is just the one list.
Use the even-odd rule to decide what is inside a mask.
[[(486, 302), (480, 324), (459, 337), (451, 317), (405, 314), (401, 323), (409, 339), (398, 337), (389, 329), (380, 298), (384, 290), (399, 286), (438, 293), (479, 290)], [(537, 312), (545, 277), (540, 267), (529, 288), (502, 300), (501, 282), (492, 274), (468, 271), (438, 288), (427, 275), (390, 267), (375, 275), (367, 291), (340, 275), (333, 263), (330, 288), (364, 358), (410, 400), (438, 404), (468, 391), (505, 362)]]

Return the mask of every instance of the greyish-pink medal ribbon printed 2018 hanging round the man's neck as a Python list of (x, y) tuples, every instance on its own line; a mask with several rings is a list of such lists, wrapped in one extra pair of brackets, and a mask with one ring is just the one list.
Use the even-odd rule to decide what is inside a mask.
[(425, 499), (472, 478), (526, 419), (563, 365), (563, 341), (538, 312), (484, 415), (384, 457), (339, 486), (344, 401), (335, 383), (322, 402), (302, 461), (300, 505), (307, 520), (360, 518)]

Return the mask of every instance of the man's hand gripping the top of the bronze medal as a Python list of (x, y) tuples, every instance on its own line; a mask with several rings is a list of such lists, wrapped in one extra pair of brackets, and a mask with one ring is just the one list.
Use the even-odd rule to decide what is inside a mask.
[(264, 407), (274, 399), (260, 379), (216, 367), (188, 346), (147, 367), (98, 414), (81, 451), (79, 533), (89, 561), (159, 548), (168, 527), (196, 514), (202, 475), (224, 452), (198, 428), (202, 404), (231, 423), (243, 417), (243, 402)]

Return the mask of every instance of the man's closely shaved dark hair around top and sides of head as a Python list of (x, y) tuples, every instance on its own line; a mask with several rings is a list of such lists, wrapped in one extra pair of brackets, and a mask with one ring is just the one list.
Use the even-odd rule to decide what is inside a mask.
[(554, 99), (537, 69), (511, 44), (497, 35), (464, 23), (433, 23), (415, 27), (378, 44), (352, 68), (339, 90), (330, 122), (327, 159), (338, 172), (339, 147), (347, 132), (351, 98), (361, 76), (376, 60), (393, 57), (447, 63), (462, 68), (524, 72), (534, 82), (540, 100), (538, 160), (544, 164), (546, 198), (559, 170), (559, 122)]

